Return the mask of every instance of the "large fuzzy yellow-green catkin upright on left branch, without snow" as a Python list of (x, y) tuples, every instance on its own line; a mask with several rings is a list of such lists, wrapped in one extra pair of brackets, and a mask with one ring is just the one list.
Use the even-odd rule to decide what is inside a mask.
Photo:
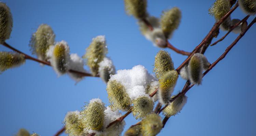
[(46, 60), (46, 51), (54, 45), (55, 34), (50, 26), (41, 24), (37, 32), (32, 34), (29, 46), (32, 53), (37, 54), (39, 60)]

